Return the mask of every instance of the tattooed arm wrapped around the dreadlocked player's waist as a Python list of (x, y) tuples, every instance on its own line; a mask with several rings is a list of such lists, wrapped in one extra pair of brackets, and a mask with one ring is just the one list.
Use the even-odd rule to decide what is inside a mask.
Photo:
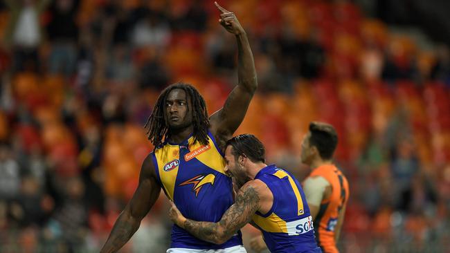
[(169, 216), (174, 223), (203, 241), (215, 244), (225, 243), (236, 234), (237, 230), (249, 223), (251, 216), (260, 209), (260, 187), (257, 184), (255, 180), (252, 180), (242, 186), (237, 192), (235, 203), (226, 210), (217, 223), (184, 218), (173, 203), (171, 203)]

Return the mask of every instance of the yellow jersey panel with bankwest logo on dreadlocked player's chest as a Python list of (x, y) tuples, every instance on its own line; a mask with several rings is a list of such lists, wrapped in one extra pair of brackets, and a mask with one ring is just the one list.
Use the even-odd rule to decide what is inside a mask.
[[(192, 144), (194, 142), (194, 138), (191, 137), (188, 140), (189, 143), (189, 150), (195, 151), (196, 149), (200, 149), (203, 144), (199, 142), (195, 142), (195, 144)], [(217, 150), (217, 147), (215, 147), (215, 144), (213, 140), (208, 138), (208, 145), (210, 146), (206, 151), (203, 153), (199, 153), (195, 158), (199, 160), (204, 165), (210, 167), (211, 169), (214, 169), (215, 171), (218, 171), (219, 173), (225, 174), (224, 167), (225, 167), (225, 159), (220, 155), (219, 151)]]

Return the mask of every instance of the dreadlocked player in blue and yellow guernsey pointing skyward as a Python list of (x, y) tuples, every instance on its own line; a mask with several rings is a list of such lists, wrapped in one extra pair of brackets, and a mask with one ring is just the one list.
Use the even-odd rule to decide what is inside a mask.
[[(199, 92), (188, 84), (173, 84), (161, 93), (145, 125), (155, 149), (145, 158), (139, 185), (118, 217), (101, 252), (116, 252), (138, 229), (154, 205), (161, 188), (188, 218), (219, 221), (233, 204), (233, 185), (226, 176), (223, 151), (244, 119), (258, 86), (253, 55), (246, 32), (233, 12), (217, 3), (219, 22), (235, 35), (238, 50), (238, 84), (222, 109), (208, 118)], [(149, 238), (151, 239), (151, 238)], [(201, 241), (174, 225), (167, 252), (246, 252), (236, 232), (217, 245)]]

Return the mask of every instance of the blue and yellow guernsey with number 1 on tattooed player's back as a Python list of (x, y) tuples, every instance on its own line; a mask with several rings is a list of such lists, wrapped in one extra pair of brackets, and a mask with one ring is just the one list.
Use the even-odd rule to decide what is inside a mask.
[(284, 169), (269, 165), (256, 174), (273, 194), (267, 214), (256, 212), (253, 225), (261, 231), (271, 252), (322, 252), (314, 238), (312, 216), (300, 183)]

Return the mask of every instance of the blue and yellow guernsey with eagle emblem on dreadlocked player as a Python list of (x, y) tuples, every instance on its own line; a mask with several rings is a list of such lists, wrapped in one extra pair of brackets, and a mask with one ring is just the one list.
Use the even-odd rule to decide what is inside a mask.
[[(224, 172), (224, 154), (208, 131), (208, 144), (187, 140), (175, 144), (164, 142), (152, 152), (156, 175), (165, 195), (174, 201), (181, 214), (194, 221), (220, 221), (233, 205), (233, 185)], [(224, 249), (242, 245), (238, 232), (222, 245), (201, 241), (174, 225), (170, 247), (188, 249)]]

